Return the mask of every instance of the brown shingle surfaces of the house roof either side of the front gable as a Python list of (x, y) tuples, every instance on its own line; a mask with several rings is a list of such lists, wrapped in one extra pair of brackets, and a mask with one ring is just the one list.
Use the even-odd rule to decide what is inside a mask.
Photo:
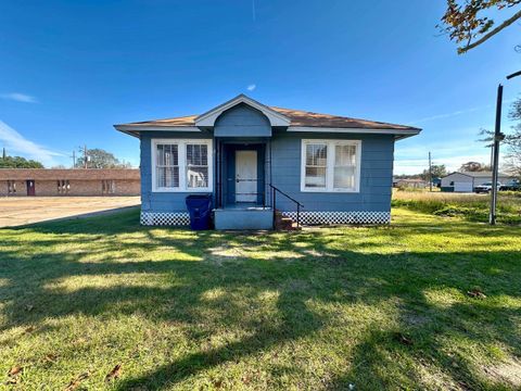
[[(291, 121), (290, 126), (305, 126), (305, 127), (328, 127), (328, 128), (361, 128), (361, 129), (394, 129), (394, 130), (420, 130), (419, 128), (389, 124), (383, 122), (359, 119), (352, 117), (344, 117), (339, 115), (331, 114), (320, 114), (313, 113), (302, 110), (294, 109), (283, 109), (277, 106), (269, 106), (269, 109), (287, 116)], [(174, 118), (164, 118), (164, 119), (152, 119), (136, 122), (129, 124), (122, 124), (116, 126), (126, 126), (126, 127), (140, 127), (140, 126), (156, 126), (156, 127), (168, 127), (168, 126), (195, 126), (195, 118), (198, 115), (187, 115), (181, 117)]]

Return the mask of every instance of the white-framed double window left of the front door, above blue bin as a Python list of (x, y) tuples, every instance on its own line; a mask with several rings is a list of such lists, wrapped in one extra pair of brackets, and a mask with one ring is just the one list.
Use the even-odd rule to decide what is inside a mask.
[(153, 140), (153, 191), (212, 191), (212, 140)]

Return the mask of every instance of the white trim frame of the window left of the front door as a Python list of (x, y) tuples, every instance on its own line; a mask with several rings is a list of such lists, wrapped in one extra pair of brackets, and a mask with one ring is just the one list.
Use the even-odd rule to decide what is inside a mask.
[[(187, 187), (187, 143), (206, 144), (208, 146), (208, 187), (205, 188), (188, 188)], [(156, 186), (156, 167), (157, 162), (157, 144), (178, 144), (179, 156), (179, 187), (164, 188)], [(151, 142), (152, 156), (152, 192), (212, 192), (214, 188), (214, 150), (212, 149), (212, 139), (152, 139)]]

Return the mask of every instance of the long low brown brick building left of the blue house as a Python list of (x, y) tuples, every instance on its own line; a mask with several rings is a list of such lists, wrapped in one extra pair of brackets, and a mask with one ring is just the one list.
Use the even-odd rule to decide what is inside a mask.
[(139, 169), (0, 168), (0, 197), (139, 194)]

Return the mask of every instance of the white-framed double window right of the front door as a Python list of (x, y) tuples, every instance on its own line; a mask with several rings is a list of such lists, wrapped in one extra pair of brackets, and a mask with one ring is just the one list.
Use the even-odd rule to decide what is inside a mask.
[(358, 192), (358, 140), (302, 140), (302, 191)]

